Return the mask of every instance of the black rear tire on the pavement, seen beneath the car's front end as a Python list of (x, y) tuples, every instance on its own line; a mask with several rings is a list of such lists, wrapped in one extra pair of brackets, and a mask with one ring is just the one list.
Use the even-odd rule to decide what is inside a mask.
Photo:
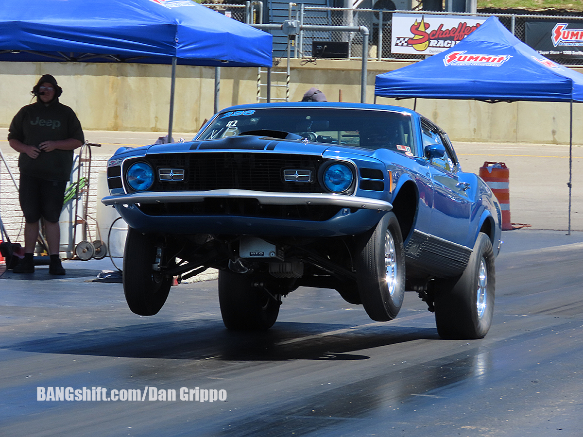
[(253, 276), (219, 272), (219, 305), (227, 329), (265, 330), (278, 319), (279, 295), (270, 295), (257, 283)]

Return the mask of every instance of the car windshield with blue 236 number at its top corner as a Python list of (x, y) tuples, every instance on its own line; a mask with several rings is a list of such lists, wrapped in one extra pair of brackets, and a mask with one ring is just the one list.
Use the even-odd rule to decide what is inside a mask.
[[(197, 139), (220, 139), (247, 132), (247, 135), (275, 136), (273, 131), (297, 135), (287, 136), (290, 139), (307, 138), (319, 143), (374, 150), (384, 148), (409, 156), (415, 154), (411, 117), (389, 111), (262, 108), (224, 112)], [(280, 138), (285, 138), (285, 135)]]

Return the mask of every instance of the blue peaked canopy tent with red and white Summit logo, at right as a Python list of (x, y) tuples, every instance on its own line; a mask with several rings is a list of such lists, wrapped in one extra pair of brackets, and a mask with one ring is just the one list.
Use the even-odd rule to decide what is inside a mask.
[(377, 96), (498, 101), (564, 101), (571, 104), (569, 212), (573, 102), (583, 101), (583, 75), (543, 57), (491, 16), (454, 47), (395, 71), (378, 75)]

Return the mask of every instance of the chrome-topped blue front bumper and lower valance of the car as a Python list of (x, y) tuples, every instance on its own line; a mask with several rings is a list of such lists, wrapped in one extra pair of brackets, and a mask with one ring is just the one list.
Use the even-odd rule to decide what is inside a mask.
[[(255, 199), (261, 205), (326, 205), (339, 208), (329, 220), (291, 220), (241, 215), (163, 215), (144, 213), (139, 205), (203, 202), (205, 199)], [(106, 196), (104, 205), (114, 206), (128, 225), (142, 232), (172, 234), (289, 235), (333, 237), (360, 234), (372, 228), (392, 209), (385, 200), (332, 193), (274, 193), (237, 189), (202, 192), (136, 192)]]

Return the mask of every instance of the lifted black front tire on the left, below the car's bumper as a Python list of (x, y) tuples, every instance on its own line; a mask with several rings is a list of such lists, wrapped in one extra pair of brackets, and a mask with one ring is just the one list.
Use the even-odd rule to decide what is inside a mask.
[(172, 286), (172, 276), (154, 270), (160, 255), (164, 262), (163, 245), (153, 235), (128, 228), (124, 250), (124, 294), (129, 309), (141, 316), (153, 316), (166, 302)]

